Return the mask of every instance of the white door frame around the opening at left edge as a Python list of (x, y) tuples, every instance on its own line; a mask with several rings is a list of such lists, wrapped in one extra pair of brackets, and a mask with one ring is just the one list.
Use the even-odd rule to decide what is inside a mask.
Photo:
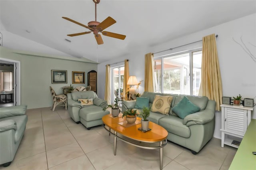
[(14, 106), (20, 105), (20, 61), (1, 58), (1, 61), (7, 61), (14, 64)]

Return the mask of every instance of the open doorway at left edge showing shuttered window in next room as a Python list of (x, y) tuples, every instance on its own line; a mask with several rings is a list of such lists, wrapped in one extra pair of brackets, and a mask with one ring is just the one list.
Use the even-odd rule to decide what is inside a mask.
[(0, 94), (0, 107), (20, 105), (20, 61), (0, 59)]

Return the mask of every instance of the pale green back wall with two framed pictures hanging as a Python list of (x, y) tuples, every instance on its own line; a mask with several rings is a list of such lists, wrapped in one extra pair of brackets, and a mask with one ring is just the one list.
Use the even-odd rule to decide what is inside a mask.
[[(28, 52), (21, 54), (4, 47), (0, 47), (0, 57), (20, 61), (20, 103), (28, 105), (28, 109), (51, 107), (52, 96), (49, 87), (52, 86), (57, 94), (62, 93), (61, 87), (72, 84), (72, 71), (85, 72), (85, 84), (74, 84), (74, 87), (87, 86), (87, 73), (91, 70), (97, 71), (97, 63), (84, 62), (82, 59), (60, 59), (60, 56)], [(67, 70), (68, 83), (52, 84), (52, 69)]]

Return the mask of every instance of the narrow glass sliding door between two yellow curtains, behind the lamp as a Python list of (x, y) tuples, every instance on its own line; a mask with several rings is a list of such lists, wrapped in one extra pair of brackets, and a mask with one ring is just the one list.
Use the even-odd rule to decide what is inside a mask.
[(114, 103), (116, 97), (120, 98), (124, 87), (124, 66), (114, 67), (112, 71), (112, 98), (111, 101)]

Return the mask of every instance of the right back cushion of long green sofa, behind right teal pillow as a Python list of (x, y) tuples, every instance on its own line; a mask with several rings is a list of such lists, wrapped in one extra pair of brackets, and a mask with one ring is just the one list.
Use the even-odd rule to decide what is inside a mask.
[(176, 106), (184, 96), (186, 96), (189, 101), (197, 105), (200, 108), (200, 111), (206, 108), (206, 105), (208, 103), (208, 97), (206, 96), (178, 95), (174, 101), (174, 106)]

